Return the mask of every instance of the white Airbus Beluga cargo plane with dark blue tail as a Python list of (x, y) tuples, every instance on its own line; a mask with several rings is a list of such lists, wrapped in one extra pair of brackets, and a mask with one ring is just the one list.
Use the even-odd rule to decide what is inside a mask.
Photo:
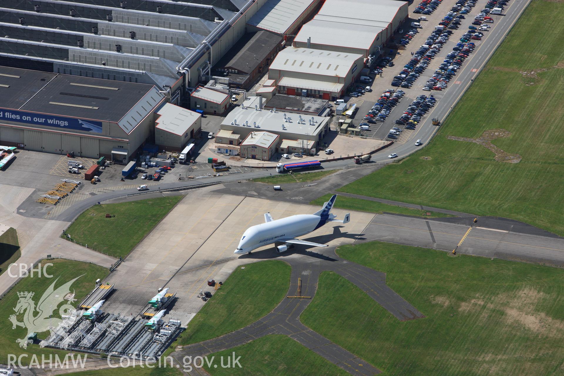
[(270, 213), (266, 213), (265, 223), (246, 229), (234, 253), (239, 255), (251, 253), (259, 247), (275, 243), (284, 243), (276, 247), (277, 253), (287, 251), (293, 244), (327, 247), (327, 244), (299, 240), (297, 237), (306, 235), (327, 222), (348, 223), (350, 221), (350, 213), (345, 214), (345, 219), (341, 220), (335, 219), (337, 216), (329, 213), (336, 198), (337, 195), (333, 194), (331, 199), (325, 202), (323, 209), (315, 214), (298, 214), (273, 220)]

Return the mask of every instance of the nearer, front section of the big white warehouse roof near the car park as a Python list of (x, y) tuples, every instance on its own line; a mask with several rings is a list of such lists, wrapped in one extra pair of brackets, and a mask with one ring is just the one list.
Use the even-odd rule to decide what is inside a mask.
[(342, 46), (368, 50), (372, 47), (378, 34), (385, 28), (381, 26), (367, 26), (335, 21), (313, 19), (302, 26), (294, 39), (296, 42), (307, 42), (327, 46)]

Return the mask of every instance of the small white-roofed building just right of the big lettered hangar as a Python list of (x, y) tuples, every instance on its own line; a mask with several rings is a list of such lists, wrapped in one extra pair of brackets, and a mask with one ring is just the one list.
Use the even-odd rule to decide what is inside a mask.
[(200, 113), (165, 103), (155, 114), (155, 144), (160, 150), (182, 151), (202, 129)]

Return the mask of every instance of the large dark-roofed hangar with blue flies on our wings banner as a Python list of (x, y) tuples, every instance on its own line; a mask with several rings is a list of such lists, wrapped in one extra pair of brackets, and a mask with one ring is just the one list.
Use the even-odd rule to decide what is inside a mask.
[(0, 144), (124, 163), (152, 135), (155, 86), (0, 67)]

